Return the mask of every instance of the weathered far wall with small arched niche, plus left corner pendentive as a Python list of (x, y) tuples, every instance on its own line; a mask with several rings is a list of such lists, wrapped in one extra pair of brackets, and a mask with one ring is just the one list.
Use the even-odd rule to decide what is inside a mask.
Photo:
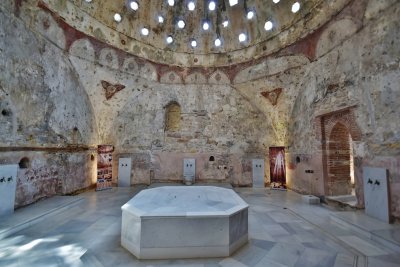
[[(101, 58), (78, 57), (78, 51), (71, 62), (98, 114), (99, 142), (115, 146), (115, 173), (118, 158), (129, 156), (132, 184), (182, 181), (183, 158), (191, 157), (198, 161), (198, 180), (252, 184), (251, 159), (264, 158), (275, 132), (265, 115), (227, 84), (225, 74), (213, 74), (204, 84), (182, 84), (178, 74), (167, 72), (158, 82), (154, 69), (133, 59), (108, 65)], [(101, 80), (125, 88), (107, 100)], [(165, 130), (165, 107), (171, 102), (181, 107), (175, 132)], [(209, 165), (211, 155), (218, 155), (219, 163)]]

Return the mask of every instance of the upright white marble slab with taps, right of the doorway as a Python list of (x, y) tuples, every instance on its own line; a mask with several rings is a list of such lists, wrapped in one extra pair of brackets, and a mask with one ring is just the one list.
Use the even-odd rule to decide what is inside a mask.
[(390, 222), (389, 181), (387, 170), (363, 168), (365, 213), (379, 220)]

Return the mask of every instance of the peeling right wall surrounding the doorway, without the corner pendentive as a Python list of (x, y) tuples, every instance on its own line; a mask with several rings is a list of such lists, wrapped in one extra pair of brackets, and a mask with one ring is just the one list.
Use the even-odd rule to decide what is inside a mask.
[[(364, 204), (362, 168), (386, 168), (392, 215), (399, 218), (400, 3), (365, 3), (363, 26), (357, 30), (349, 26), (348, 19), (333, 23), (318, 42), (321, 57), (298, 77), (298, 96), (291, 110), (287, 141), (290, 185), (301, 192), (327, 193), (318, 137), (321, 129), (316, 118), (354, 106), (352, 123), (361, 131), (361, 139), (353, 142), (358, 204)], [(334, 48), (326, 45), (332, 39), (338, 44)], [(296, 156), (301, 158), (300, 163), (295, 163)], [(314, 173), (306, 174), (306, 169)]]

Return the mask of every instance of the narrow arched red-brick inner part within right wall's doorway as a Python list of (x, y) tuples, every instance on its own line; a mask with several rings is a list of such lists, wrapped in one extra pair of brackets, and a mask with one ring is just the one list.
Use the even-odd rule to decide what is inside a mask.
[(337, 122), (328, 142), (328, 195), (350, 195), (352, 192), (351, 137), (345, 125)]

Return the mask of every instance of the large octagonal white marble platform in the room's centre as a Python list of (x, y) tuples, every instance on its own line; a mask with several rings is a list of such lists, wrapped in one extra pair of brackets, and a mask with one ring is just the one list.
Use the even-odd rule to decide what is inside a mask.
[(121, 208), (121, 244), (139, 259), (226, 257), (248, 241), (248, 207), (215, 186), (146, 189)]

